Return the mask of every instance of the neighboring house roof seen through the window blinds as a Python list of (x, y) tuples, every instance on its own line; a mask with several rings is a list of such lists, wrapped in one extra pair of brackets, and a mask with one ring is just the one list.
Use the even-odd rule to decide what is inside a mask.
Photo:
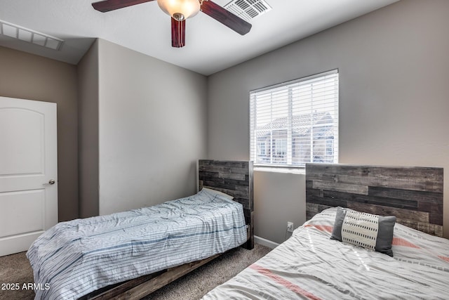
[[(257, 138), (266, 136), (272, 131), (286, 130), (288, 117), (281, 117), (274, 119), (272, 122), (257, 127)], [(293, 123), (293, 133), (299, 134), (300, 136), (306, 135), (310, 131), (311, 125), (319, 124), (332, 124), (333, 118), (329, 112), (316, 112), (313, 115), (303, 114), (294, 115), (292, 117)], [(328, 128), (323, 127), (328, 131)]]

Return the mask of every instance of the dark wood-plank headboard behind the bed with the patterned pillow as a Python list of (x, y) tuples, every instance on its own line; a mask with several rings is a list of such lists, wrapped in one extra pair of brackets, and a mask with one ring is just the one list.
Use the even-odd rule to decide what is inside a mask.
[(307, 220), (337, 206), (442, 237), (443, 168), (306, 164)]

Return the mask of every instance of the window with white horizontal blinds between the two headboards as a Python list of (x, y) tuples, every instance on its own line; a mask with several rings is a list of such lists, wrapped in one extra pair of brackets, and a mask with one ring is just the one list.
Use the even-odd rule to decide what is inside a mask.
[(338, 162), (338, 71), (250, 92), (255, 166)]

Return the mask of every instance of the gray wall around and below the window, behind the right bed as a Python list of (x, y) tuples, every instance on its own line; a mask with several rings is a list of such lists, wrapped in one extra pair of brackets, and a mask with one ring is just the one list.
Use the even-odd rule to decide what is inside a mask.
[[(449, 167), (449, 1), (404, 0), (208, 78), (208, 158), (249, 158), (250, 90), (338, 68), (340, 163)], [(305, 220), (304, 175), (255, 171), (255, 235)], [(449, 176), (443, 234), (449, 237)]]

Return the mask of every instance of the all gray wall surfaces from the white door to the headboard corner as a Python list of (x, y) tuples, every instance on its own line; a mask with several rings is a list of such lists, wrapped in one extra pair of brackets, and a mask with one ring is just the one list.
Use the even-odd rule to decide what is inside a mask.
[(58, 103), (59, 221), (196, 193), (203, 75), (101, 39), (77, 66), (3, 47), (0, 65), (1, 96)]

